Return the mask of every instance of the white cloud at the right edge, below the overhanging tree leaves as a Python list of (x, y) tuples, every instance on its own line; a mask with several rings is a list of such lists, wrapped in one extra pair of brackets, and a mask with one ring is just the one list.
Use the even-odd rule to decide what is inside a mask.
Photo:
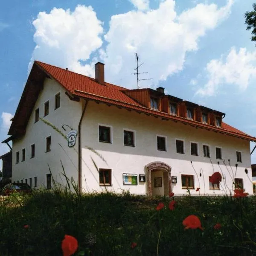
[(213, 96), (225, 84), (236, 85), (239, 90), (246, 90), (251, 79), (256, 78), (256, 51), (248, 52), (245, 48), (232, 47), (226, 59), (222, 55), (219, 59), (209, 61), (206, 66), (209, 81), (197, 90), (201, 96)]

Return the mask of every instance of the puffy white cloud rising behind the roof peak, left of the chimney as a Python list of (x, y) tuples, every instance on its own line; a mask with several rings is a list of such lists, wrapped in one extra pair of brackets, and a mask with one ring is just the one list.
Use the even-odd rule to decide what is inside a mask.
[(102, 46), (103, 28), (91, 6), (78, 5), (74, 12), (57, 8), (53, 8), (49, 14), (39, 12), (32, 24), (36, 30), (36, 47), (29, 71), (36, 59), (93, 75), (93, 65), (83, 65), (83, 62)]

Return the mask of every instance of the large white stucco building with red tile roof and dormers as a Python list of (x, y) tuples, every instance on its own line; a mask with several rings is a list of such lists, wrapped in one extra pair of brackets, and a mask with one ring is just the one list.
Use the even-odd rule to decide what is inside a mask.
[[(235, 181), (253, 194), (250, 141), (256, 138), (224, 116), (162, 87), (109, 84), (100, 62), (93, 79), (35, 61), (6, 140), (13, 146), (12, 181), (66, 184), (63, 166), (83, 192), (198, 195), (200, 187), (201, 194), (223, 195)], [(223, 174), (214, 186), (213, 172)]]

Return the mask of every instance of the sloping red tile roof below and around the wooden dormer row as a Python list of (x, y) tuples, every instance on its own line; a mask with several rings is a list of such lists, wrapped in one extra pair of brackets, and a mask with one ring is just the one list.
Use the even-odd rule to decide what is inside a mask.
[(200, 128), (206, 128), (212, 131), (217, 131), (256, 142), (255, 137), (251, 137), (250, 135), (245, 134), (244, 132), (239, 131), (230, 125), (227, 125), (224, 122), (222, 122), (222, 128), (218, 128), (194, 120), (185, 119), (180, 116), (173, 116), (168, 113), (152, 110), (150, 108), (146, 108), (122, 92), (122, 90), (128, 90), (127, 88), (106, 82), (105, 85), (102, 85), (97, 83), (95, 79), (88, 76), (77, 74), (72, 71), (65, 70), (60, 67), (55, 67), (40, 61), (35, 61), (35, 64), (39, 65), (39, 67), (41, 67), (45, 73), (58, 81), (58, 83), (61, 84), (65, 90), (75, 96), (91, 99), (94, 101), (105, 102), (111, 105), (116, 105), (143, 113), (148, 113), (157, 117), (162, 117), (164, 119), (171, 119), (175, 122), (180, 121), (193, 126), (198, 126)]

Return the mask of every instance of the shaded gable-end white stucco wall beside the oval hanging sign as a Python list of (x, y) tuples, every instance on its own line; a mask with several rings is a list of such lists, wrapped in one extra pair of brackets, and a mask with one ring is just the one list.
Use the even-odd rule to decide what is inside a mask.
[[(54, 110), (55, 94), (61, 93), (61, 106)], [(49, 115), (44, 117), (44, 103), (49, 100)], [(12, 154), (12, 181), (32, 177), (32, 187), (34, 186), (34, 177), (37, 177), (37, 187), (46, 186), (46, 175), (49, 174), (48, 164), (52, 171), (54, 179), (59, 183), (65, 183), (65, 178), (61, 175), (63, 172), (61, 162), (63, 163), (67, 176), (78, 182), (78, 141), (74, 148), (69, 148), (67, 141), (52, 127), (39, 120), (35, 123), (35, 110), (39, 108), (39, 117), (47, 119), (65, 135), (70, 131), (64, 131), (63, 124), (69, 125), (78, 130), (79, 119), (81, 116), (81, 102), (71, 101), (62, 87), (52, 79), (46, 79), (44, 89), (38, 97), (35, 107), (30, 116), (26, 127), (25, 136), (13, 142)], [(46, 151), (46, 137), (51, 136), (51, 151)], [(30, 158), (30, 146), (35, 143), (35, 157)], [(60, 145), (59, 145), (60, 144)], [(22, 160), (22, 149), (26, 149), (26, 159)], [(19, 151), (19, 163), (16, 164), (16, 152)], [(71, 159), (71, 160), (70, 160)], [(62, 182), (64, 181), (64, 182)]]

